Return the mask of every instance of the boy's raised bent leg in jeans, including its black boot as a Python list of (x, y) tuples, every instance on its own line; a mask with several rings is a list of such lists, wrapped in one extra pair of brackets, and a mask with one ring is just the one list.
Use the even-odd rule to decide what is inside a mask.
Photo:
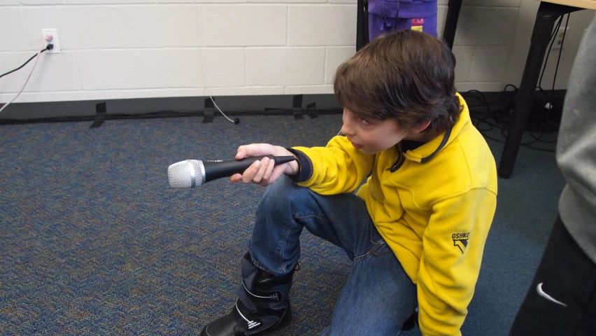
[(289, 320), (288, 294), (305, 227), (344, 248), (350, 258), (360, 255), (354, 251), (374, 246), (371, 232), (378, 235), (366, 205), (353, 193), (318, 195), (284, 176), (267, 188), (257, 207), (248, 253), (242, 259), (239, 299), (201, 335), (253, 335)]

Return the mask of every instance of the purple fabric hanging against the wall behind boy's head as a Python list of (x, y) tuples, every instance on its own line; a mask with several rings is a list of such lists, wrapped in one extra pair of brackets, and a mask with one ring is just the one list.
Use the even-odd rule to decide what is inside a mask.
[(389, 31), (416, 26), (437, 36), (437, 0), (369, 0), (368, 10), (370, 41)]

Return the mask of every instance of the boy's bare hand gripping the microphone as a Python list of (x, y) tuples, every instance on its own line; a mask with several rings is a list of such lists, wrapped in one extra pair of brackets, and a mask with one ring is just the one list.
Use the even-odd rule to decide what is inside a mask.
[[(238, 148), (236, 160), (259, 155), (296, 156), (281, 146), (273, 146), (270, 144), (250, 144), (246, 146), (240, 146)], [(274, 160), (263, 158), (263, 160), (255, 161), (253, 165), (250, 165), (250, 167), (248, 167), (242, 174), (234, 174), (230, 176), (229, 181), (232, 181), (232, 183), (240, 181), (243, 183), (253, 182), (260, 186), (269, 186), (269, 184), (274, 183), (274, 181), (276, 181), (281, 174), (297, 174), (298, 169), (299, 166), (298, 162), (296, 161), (276, 166)]]

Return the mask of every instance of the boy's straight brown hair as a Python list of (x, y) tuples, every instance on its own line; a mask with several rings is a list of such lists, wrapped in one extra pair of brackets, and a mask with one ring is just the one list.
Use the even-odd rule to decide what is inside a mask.
[(460, 115), (455, 57), (426, 33), (395, 31), (375, 38), (337, 69), (333, 87), (341, 106), (364, 119), (393, 118), (410, 129), (444, 132)]

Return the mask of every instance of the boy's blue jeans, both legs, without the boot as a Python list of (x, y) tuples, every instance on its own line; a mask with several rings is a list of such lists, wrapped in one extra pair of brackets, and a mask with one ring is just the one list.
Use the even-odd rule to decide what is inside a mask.
[(416, 285), (353, 193), (324, 196), (283, 176), (269, 186), (255, 214), (248, 248), (257, 267), (276, 276), (294, 269), (306, 228), (343, 248), (352, 271), (321, 335), (398, 335), (418, 303)]

